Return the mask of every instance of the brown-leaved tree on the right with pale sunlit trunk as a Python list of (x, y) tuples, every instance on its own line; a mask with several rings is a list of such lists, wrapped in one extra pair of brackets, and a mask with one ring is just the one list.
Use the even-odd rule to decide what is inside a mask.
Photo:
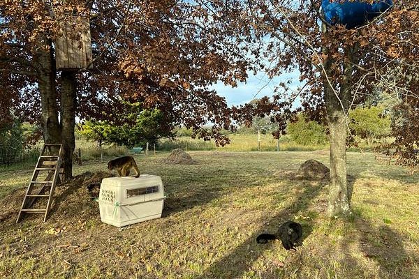
[[(244, 1), (245, 15), (240, 14), (240, 20), (232, 26), (252, 27), (242, 45), (251, 49), (255, 70), (264, 68), (269, 77), (293, 69), (300, 71), (303, 85), (299, 90), (291, 92), (284, 101), (290, 90), (286, 83), (279, 84), (284, 91), (277, 91), (271, 105), (266, 106), (265, 101), (258, 110), (281, 112), (277, 121), (284, 123), (284, 115), (293, 114), (290, 100), (298, 96), (312, 119), (328, 122), (329, 213), (347, 216), (351, 215), (346, 181), (348, 110), (364, 103), (380, 82), (388, 88), (402, 88), (405, 98), (417, 98), (418, 80), (392, 82), (389, 73), (397, 67), (405, 76), (417, 72), (419, 8), (416, 1), (395, 1), (390, 10), (374, 14), (371, 22), (346, 28), (339, 20), (326, 20), (321, 6), (329, 3), (329, 0)], [(351, 5), (349, 1), (345, 4)], [(244, 106), (242, 110), (250, 112), (251, 107)]]

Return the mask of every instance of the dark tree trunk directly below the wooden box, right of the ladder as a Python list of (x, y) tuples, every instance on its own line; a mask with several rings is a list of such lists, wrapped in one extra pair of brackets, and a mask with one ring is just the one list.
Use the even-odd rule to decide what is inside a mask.
[(61, 126), (62, 144), (64, 149), (62, 167), (65, 179), (73, 176), (73, 152), (75, 149), (75, 108), (77, 81), (72, 71), (61, 73)]

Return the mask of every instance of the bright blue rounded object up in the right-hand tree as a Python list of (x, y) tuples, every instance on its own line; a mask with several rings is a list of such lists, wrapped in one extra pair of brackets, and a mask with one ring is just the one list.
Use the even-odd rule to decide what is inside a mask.
[(325, 20), (332, 25), (344, 24), (351, 29), (365, 24), (392, 6), (392, 0), (376, 0), (369, 4), (356, 0), (340, 3), (339, 0), (323, 0), (321, 3)]

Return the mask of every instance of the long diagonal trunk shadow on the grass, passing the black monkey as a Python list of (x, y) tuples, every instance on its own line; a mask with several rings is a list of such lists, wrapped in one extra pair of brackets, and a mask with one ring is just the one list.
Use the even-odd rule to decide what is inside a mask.
[[(297, 183), (295, 183), (297, 184)], [(269, 231), (276, 229), (280, 223), (292, 218), (298, 211), (304, 211), (308, 208), (310, 201), (320, 195), (321, 190), (325, 187), (325, 182), (318, 183), (317, 186), (306, 186), (304, 192), (301, 193), (296, 203), (279, 211), (275, 216), (265, 220), (265, 223), (275, 225)], [(218, 262), (212, 264), (206, 269), (202, 275), (196, 276), (194, 279), (206, 278), (240, 278), (251, 269), (264, 250), (269, 249), (272, 244), (261, 245), (256, 243), (256, 236), (262, 233), (266, 227), (261, 227), (258, 232), (252, 234), (249, 239), (244, 241), (240, 246), (233, 249), (228, 255), (219, 259)], [(303, 240), (311, 234), (312, 227), (309, 224), (303, 224)]]

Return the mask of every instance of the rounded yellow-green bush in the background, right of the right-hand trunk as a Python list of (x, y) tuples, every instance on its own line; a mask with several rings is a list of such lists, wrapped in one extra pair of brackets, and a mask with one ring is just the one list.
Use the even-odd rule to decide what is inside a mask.
[(383, 115), (383, 107), (356, 107), (349, 111), (349, 128), (371, 145), (374, 140), (390, 135), (390, 116)]

